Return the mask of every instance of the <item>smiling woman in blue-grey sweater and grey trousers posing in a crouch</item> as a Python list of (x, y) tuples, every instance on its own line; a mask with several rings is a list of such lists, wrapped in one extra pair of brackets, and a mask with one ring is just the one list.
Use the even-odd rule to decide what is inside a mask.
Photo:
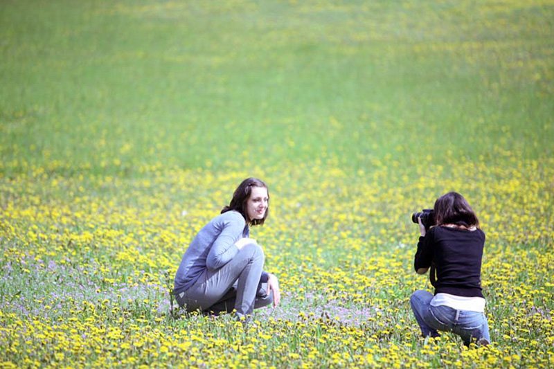
[(262, 270), (264, 252), (249, 237), (249, 226), (264, 224), (268, 210), (266, 184), (244, 179), (231, 204), (198, 232), (181, 260), (173, 288), (181, 307), (215, 315), (234, 309), (244, 320), (253, 309), (278, 305), (278, 280)]

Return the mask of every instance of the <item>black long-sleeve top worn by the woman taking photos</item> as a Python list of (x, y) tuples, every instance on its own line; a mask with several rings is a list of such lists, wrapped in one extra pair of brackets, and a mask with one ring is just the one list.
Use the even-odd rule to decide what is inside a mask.
[(420, 237), (413, 266), (429, 268), (434, 262), (437, 278), (435, 294), (483, 297), (481, 292), (481, 260), (485, 233), (481, 229), (436, 226)]

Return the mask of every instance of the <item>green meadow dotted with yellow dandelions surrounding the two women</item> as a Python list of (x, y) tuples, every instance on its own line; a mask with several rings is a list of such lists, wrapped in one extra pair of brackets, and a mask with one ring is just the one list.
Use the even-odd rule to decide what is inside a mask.
[[(4, 0), (0, 367), (554, 366), (554, 1)], [(172, 306), (246, 177), (282, 303)], [(492, 344), (422, 339), (411, 213), (487, 235)]]

